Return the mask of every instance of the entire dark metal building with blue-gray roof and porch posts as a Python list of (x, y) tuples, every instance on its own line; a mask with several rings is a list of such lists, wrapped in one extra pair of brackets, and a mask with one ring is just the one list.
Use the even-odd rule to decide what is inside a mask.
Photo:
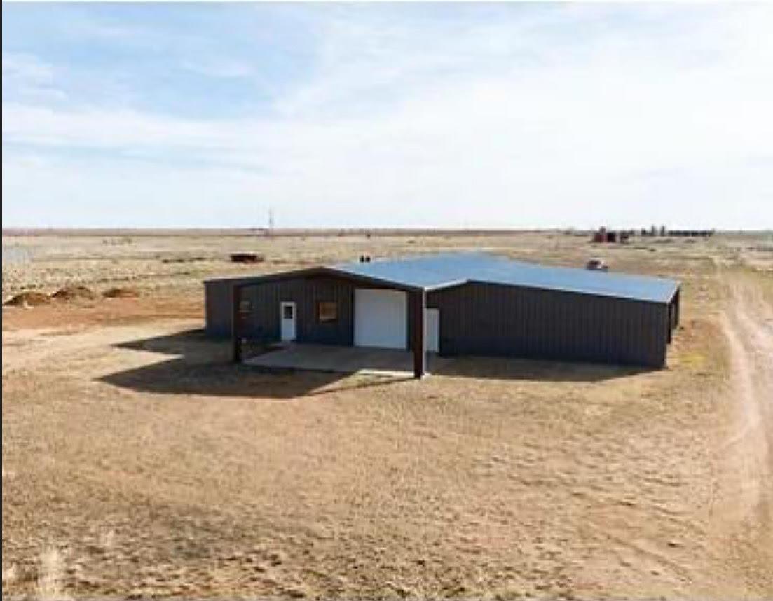
[[(679, 283), (445, 253), (208, 280), (206, 331), (295, 341), (562, 361), (665, 365)], [(235, 324), (235, 327), (234, 327)]]

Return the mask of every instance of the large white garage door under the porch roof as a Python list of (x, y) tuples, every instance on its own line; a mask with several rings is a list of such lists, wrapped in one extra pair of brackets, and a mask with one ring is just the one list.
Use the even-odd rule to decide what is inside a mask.
[(397, 290), (354, 291), (354, 345), (408, 348), (408, 298)]

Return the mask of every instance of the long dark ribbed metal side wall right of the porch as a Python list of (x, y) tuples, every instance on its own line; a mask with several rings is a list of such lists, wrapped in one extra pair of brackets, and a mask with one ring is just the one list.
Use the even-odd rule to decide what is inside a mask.
[(442, 355), (506, 355), (661, 367), (668, 304), (464, 284), (431, 292)]

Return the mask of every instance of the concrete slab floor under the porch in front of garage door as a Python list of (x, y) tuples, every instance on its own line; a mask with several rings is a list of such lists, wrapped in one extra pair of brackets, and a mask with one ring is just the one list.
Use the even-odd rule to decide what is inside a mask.
[[(427, 371), (449, 359), (427, 354)], [(393, 348), (291, 344), (244, 360), (245, 365), (313, 372), (414, 375), (414, 353)]]

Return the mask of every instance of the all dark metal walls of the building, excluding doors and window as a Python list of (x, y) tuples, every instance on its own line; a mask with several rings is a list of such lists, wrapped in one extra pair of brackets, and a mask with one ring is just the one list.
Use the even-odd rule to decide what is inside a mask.
[[(206, 285), (206, 331), (230, 336), (233, 282)], [(243, 334), (278, 341), (279, 303), (297, 306), (298, 341), (351, 345), (354, 289), (334, 277), (294, 277), (242, 289), (250, 300)], [(339, 303), (337, 322), (317, 322), (318, 300)], [(594, 297), (495, 284), (463, 284), (427, 294), (427, 307), (440, 310), (441, 355), (504, 355), (662, 367), (676, 321), (673, 304)], [(408, 341), (413, 340), (408, 311)]]

